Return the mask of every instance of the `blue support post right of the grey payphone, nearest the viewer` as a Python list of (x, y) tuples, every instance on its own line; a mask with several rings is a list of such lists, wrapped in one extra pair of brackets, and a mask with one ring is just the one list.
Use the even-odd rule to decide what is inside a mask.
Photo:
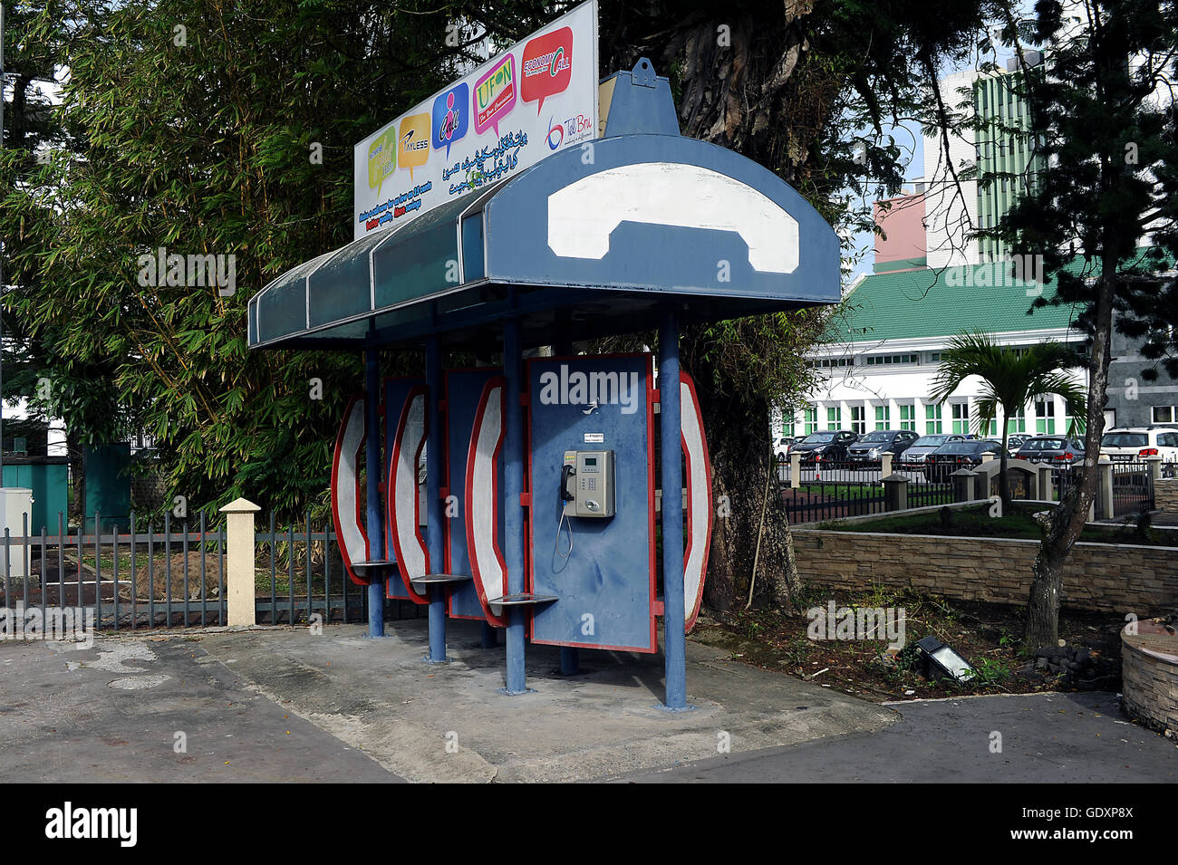
[(679, 317), (663, 314), (659, 327), (659, 414), (662, 447), (663, 639), (667, 691), (663, 708), (687, 705), (687, 636), (683, 610), (682, 413), (679, 399)]

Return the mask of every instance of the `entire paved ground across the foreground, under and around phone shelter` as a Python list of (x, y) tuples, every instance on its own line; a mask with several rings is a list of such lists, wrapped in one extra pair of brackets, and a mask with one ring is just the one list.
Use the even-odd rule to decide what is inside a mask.
[(390, 632), (0, 643), (0, 781), (1178, 780), (1174, 740), (1114, 694), (879, 706), (689, 641), (697, 708), (668, 713), (661, 656), (584, 652), (562, 677), (530, 646), (534, 693), (504, 697), (477, 623), (451, 623), (439, 666), (424, 620)]

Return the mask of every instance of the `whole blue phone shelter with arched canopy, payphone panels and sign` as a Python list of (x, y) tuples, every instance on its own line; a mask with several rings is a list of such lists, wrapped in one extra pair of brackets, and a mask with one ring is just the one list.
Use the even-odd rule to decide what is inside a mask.
[[(537, 39), (575, 40), (590, 13), (595, 39), (591, 2)], [(577, 44), (574, 85), (596, 75), (595, 42)], [(519, 56), (538, 51), (522, 45)], [(502, 56), (488, 80), (509, 87)], [(510, 114), (508, 95), (488, 118)], [(458, 102), (445, 104), (452, 114)], [(560, 646), (563, 665), (581, 650), (656, 652), (662, 619), (664, 706), (679, 711), (715, 519), (680, 327), (838, 302), (839, 239), (772, 172), (681, 137), (648, 60), (601, 81), (587, 106), (591, 122), (547, 139), (488, 122), (498, 152), (524, 159), (497, 157), (469, 188), (441, 173), (424, 182), (429, 160), (456, 177), (451, 149), (468, 162), (483, 151), (454, 140), (413, 151), (422, 204), (363, 211), (356, 240), (267, 285), (250, 301), (249, 344), (364, 353), (365, 387), (336, 441), (332, 513), (349, 574), (370, 586), (371, 636), (385, 597), (426, 605), (426, 659), (443, 663), (448, 620), (482, 620), (484, 640), (505, 632), (504, 693), (522, 694), (527, 637)], [(396, 140), (365, 151), (370, 171), (357, 177), (372, 189), (399, 182), (382, 149)], [(651, 332), (657, 354), (541, 351)], [(424, 351), (425, 375), (382, 382), (385, 347)], [(457, 352), (495, 366), (446, 370)]]

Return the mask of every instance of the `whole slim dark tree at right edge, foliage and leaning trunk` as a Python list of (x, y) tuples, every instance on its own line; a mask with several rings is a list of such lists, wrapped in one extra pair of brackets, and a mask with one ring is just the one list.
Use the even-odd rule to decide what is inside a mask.
[(1021, 86), (1046, 167), (995, 234), (1017, 255), (1041, 255), (1055, 279), (1055, 295), (1037, 306), (1079, 305), (1090, 392), (1081, 483), (1053, 512), (1034, 563), (1028, 648), (1058, 639), (1064, 565), (1096, 497), (1114, 312), (1124, 332), (1149, 337), (1152, 357), (1172, 352), (1174, 281), (1163, 274), (1176, 249), (1178, 192), (1174, 4), (1040, 0), (1035, 12), (1046, 73)]

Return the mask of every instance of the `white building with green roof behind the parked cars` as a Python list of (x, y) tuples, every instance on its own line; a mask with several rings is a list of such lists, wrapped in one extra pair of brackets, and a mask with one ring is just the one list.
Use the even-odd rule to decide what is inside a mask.
[[(832, 321), (832, 340), (812, 357), (828, 371), (823, 385), (808, 405), (786, 412), (781, 434), (978, 433), (980, 380), (967, 379), (944, 404), (928, 398), (941, 351), (953, 337), (985, 331), (1015, 351), (1050, 339), (1077, 347), (1084, 342), (1084, 334), (1072, 326), (1073, 307), (1032, 311), (1037, 297), (1054, 292), (1053, 282), (1038, 275), (1001, 261), (860, 277)], [(1072, 374), (1086, 380), (1084, 370)], [(1066, 432), (1071, 421), (1071, 407), (1054, 397), (1024, 406), (1008, 425), (1011, 432), (1053, 434)], [(980, 432), (998, 434), (998, 425)]]

